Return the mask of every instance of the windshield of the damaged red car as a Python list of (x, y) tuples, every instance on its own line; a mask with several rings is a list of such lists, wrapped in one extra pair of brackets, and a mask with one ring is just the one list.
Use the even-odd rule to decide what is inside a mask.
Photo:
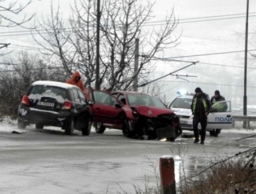
[(145, 94), (128, 94), (130, 105), (147, 105), (159, 108), (166, 108), (165, 105), (156, 97)]

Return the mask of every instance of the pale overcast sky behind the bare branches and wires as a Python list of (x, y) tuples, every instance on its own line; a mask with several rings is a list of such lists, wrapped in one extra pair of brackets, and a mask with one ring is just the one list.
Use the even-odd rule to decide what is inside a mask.
[[(53, 5), (57, 8), (61, 7), (63, 17), (68, 18), (70, 13), (69, 3), (74, 1), (70, 0), (52, 0)], [(143, 0), (144, 1), (144, 0)], [(21, 3), (25, 0), (20, 0)], [(156, 17), (154, 21), (163, 21), (166, 13), (174, 8), (175, 16), (179, 19), (179, 24), (174, 32), (174, 35), (182, 36), (180, 38), (180, 44), (172, 49), (166, 49), (161, 53), (162, 57), (175, 57), (177, 60), (184, 61), (199, 61), (195, 66), (186, 68), (180, 71), (180, 74), (190, 74), (192, 76), (198, 76), (197, 78), (188, 78), (188, 81), (182, 84), (176, 84), (176, 81), (182, 81), (182, 79), (176, 79), (174, 76), (166, 77), (162, 79), (163, 87), (162, 92), (173, 94), (175, 90), (184, 88), (192, 90), (196, 86), (202, 87), (205, 92), (213, 94), (216, 87), (208, 87), (208, 85), (199, 85), (202, 79), (206, 79), (206, 82), (210, 82), (216, 85), (226, 83), (226, 85), (232, 85), (233, 79), (236, 79), (237, 84), (243, 84), (243, 68), (232, 68), (231, 66), (244, 66), (244, 53), (234, 52), (225, 53), (221, 55), (205, 55), (223, 52), (244, 51), (245, 49), (245, 29), (246, 29), (246, 0), (225, 0), (225, 1), (212, 1), (212, 0), (156, 0), (154, 6), (154, 14)], [(25, 10), (28, 16), (36, 13), (37, 18), (41, 16), (46, 17), (50, 14), (51, 0), (33, 0), (33, 3)], [(255, 40), (252, 33), (255, 33), (256, 23), (256, 1), (249, 1), (249, 42), (248, 49), (255, 49)], [(160, 23), (160, 22), (159, 22)], [(0, 29), (0, 42), (10, 43), (10, 49), (15, 51), (21, 51), (22, 46), (30, 46), (33, 48), (38, 47), (33, 42), (29, 33), (10, 33), (14, 31), (24, 31), (25, 29), (11, 28), (7, 29), (1, 27)], [(7, 32), (8, 33), (3, 33)], [(25, 34), (25, 35), (21, 35)], [(254, 35), (255, 37), (255, 35)], [(3, 49), (2, 49), (3, 50)], [(29, 51), (36, 51), (30, 48)], [(253, 53), (256, 53), (254, 51)], [(190, 56), (190, 57), (185, 57)], [(1, 61), (0, 61), (1, 62)], [(186, 62), (156, 62), (157, 69), (152, 79), (164, 76), (169, 72), (173, 72), (178, 68), (182, 68), (190, 63)], [(248, 62), (248, 67), (255, 66), (255, 62)], [(208, 68), (209, 74), (202, 77), (199, 72), (202, 68)], [(227, 75), (227, 72), (234, 71), (234, 77), (229, 80), (223, 81), (222, 78)], [(210, 81), (208, 81), (210, 80)], [(183, 80), (184, 81), (184, 80)], [(254, 81), (251, 83), (248, 80), (248, 85), (254, 85)], [(170, 86), (169, 83), (172, 83)], [(192, 84), (195, 82), (195, 84)], [(173, 84), (175, 83), (175, 84)], [(218, 87), (218, 86), (217, 86)], [(225, 86), (226, 87), (226, 86)], [(223, 87), (218, 89), (224, 90)], [(242, 89), (242, 88), (241, 88)], [(230, 98), (229, 94), (224, 93), (227, 98)]]

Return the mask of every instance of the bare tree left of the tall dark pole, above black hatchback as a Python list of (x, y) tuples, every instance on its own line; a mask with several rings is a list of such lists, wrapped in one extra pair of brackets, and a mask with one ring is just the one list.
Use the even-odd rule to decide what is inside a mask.
[[(86, 5), (82, 5), (88, 14), (79, 12), (81, 10), (78, 1), (72, 8), (73, 14), (68, 21), (64, 21), (60, 8), (53, 12), (51, 5), (51, 17), (40, 23), (40, 29), (36, 29), (41, 38), (48, 44), (41, 43), (36, 36), (35, 41), (44, 48), (44, 55), (51, 59), (56, 59), (71, 76), (75, 70), (79, 70), (86, 77), (85, 85), (91, 86), (95, 81), (95, 48), (96, 34), (95, 25), (91, 22), (91, 13), (94, 4), (89, 0)], [(46, 33), (42, 33), (42, 31)], [(60, 59), (60, 60), (59, 60)]]

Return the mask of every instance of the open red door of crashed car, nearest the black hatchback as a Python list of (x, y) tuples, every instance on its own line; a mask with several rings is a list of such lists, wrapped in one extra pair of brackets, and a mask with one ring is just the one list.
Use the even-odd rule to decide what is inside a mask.
[[(87, 94), (87, 100), (92, 100), (90, 105), (92, 120), (107, 124), (122, 124), (119, 113), (122, 111), (122, 103), (109, 92), (91, 90)], [(88, 99), (89, 98), (89, 99)]]

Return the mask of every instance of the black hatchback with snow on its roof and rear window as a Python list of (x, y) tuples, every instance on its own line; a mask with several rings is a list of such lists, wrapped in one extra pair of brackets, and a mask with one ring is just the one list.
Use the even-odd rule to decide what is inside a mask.
[(57, 81), (35, 81), (27, 90), (18, 108), (18, 128), (35, 124), (59, 126), (66, 135), (79, 130), (91, 132), (91, 113), (85, 95), (78, 87)]

